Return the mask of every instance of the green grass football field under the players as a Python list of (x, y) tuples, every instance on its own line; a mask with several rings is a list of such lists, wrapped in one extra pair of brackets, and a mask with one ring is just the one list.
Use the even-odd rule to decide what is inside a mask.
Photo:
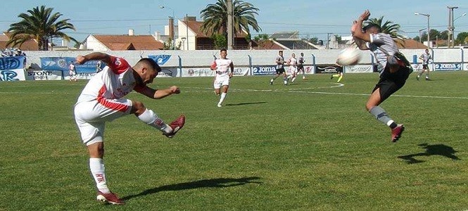
[(234, 77), (217, 108), (212, 78), (157, 78), (179, 86), (139, 94), (173, 139), (133, 115), (106, 125), (108, 186), (126, 205), (95, 199), (72, 106), (87, 81), (0, 82), (0, 210), (468, 210), (468, 72), (415, 73), (381, 104), (406, 130), (365, 110), (377, 74), (329, 75), (271, 86)]

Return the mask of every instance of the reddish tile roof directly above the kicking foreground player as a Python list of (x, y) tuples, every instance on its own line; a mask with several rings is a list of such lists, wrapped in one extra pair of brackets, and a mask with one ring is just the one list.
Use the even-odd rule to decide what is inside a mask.
[(151, 35), (92, 35), (111, 51), (162, 50), (164, 44)]

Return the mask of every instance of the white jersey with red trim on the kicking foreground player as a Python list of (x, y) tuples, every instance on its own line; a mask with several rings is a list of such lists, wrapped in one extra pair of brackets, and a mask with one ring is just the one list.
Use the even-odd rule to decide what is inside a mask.
[[(119, 99), (129, 94), (135, 87), (136, 81), (133, 69), (123, 58), (111, 57), (111, 62), (94, 77), (89, 79), (78, 97), (77, 103), (97, 100), (106, 103), (106, 99)], [(106, 103), (107, 104), (107, 103)], [(108, 108), (112, 105), (103, 105)], [(118, 108), (116, 108), (118, 109)]]

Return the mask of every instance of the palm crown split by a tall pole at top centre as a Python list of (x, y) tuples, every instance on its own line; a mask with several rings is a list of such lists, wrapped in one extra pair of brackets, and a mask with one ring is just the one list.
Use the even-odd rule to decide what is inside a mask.
[[(253, 4), (234, 0), (233, 11), (234, 33), (244, 30), (250, 34), (249, 27), (252, 27), (255, 32), (262, 30), (255, 20), (255, 15), (258, 15), (260, 9), (255, 8)], [(217, 34), (221, 30), (222, 34), (227, 35), (227, 0), (217, 0), (216, 4), (208, 4), (200, 13), (203, 19), (201, 25), (203, 33), (211, 35)]]

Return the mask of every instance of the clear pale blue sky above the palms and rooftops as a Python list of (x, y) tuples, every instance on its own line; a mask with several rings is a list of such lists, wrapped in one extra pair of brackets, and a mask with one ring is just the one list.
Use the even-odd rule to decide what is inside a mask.
[[(133, 29), (135, 34), (153, 34), (164, 32), (167, 16), (182, 19), (186, 14), (200, 20), (200, 11), (217, 0), (98, 0), (98, 1), (63, 1), (63, 0), (7, 0), (2, 1), (0, 12), (0, 30), (6, 31), (11, 23), (17, 22), (18, 14), (28, 9), (45, 5), (53, 12), (62, 13), (62, 19), (70, 18), (70, 23), (77, 28), (68, 34), (83, 40), (89, 34), (127, 34)], [(427, 18), (415, 15), (415, 12), (431, 15), (431, 29), (447, 30), (448, 8), (454, 10), (454, 18), (468, 13), (468, 1), (432, 1), (432, 0), (393, 0), (393, 1), (344, 1), (344, 0), (246, 0), (260, 9), (256, 17), (262, 32), (272, 34), (298, 30), (301, 37), (326, 39), (327, 33), (348, 36), (350, 24), (362, 11), (369, 9), (371, 18), (384, 16), (401, 25), (401, 34), (408, 37), (419, 35), (419, 30), (427, 26)], [(131, 2), (131, 4), (128, 4)], [(160, 6), (166, 8), (161, 9)], [(468, 32), (468, 15), (455, 20), (455, 34)]]

